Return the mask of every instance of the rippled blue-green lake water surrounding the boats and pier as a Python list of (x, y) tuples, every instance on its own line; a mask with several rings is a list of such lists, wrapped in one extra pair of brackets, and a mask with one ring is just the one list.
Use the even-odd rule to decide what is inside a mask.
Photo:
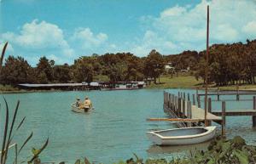
[[(20, 160), (31, 155), (31, 148), (39, 148), (49, 137), (49, 145), (41, 155), (42, 161), (67, 161), (74, 163), (78, 158), (88, 157), (90, 161), (113, 163), (133, 157), (177, 156), (183, 147), (153, 146), (146, 136), (152, 129), (175, 127), (168, 122), (147, 122), (148, 117), (167, 117), (164, 113), (162, 89), (141, 89), (131, 91), (49, 92), (3, 94), (10, 109), (20, 99), (18, 120), (26, 116), (26, 122), (15, 133), (15, 142), (22, 144), (33, 132), (32, 140), (20, 154)], [(172, 93), (180, 89), (168, 89)], [(195, 93), (195, 90), (183, 90)], [(88, 95), (96, 110), (90, 114), (77, 114), (70, 105), (76, 97)], [(233, 99), (233, 97), (225, 97)], [(243, 97), (242, 97), (243, 98)], [(213, 99), (213, 98), (212, 98)], [(234, 96), (235, 99), (235, 96)], [(252, 99), (252, 96), (244, 96)], [(3, 98), (1, 102), (1, 133), (3, 132)], [(214, 110), (221, 109), (221, 102), (213, 103)], [(252, 101), (227, 102), (227, 109), (252, 109)], [(220, 129), (220, 128), (218, 128)], [(252, 129), (249, 116), (227, 118), (228, 137), (241, 135), (248, 144), (256, 144), (256, 132)], [(2, 136), (2, 134), (1, 134)], [(205, 147), (205, 144), (199, 146)], [(170, 153), (172, 152), (172, 153)], [(183, 154), (183, 152), (182, 152)]]

